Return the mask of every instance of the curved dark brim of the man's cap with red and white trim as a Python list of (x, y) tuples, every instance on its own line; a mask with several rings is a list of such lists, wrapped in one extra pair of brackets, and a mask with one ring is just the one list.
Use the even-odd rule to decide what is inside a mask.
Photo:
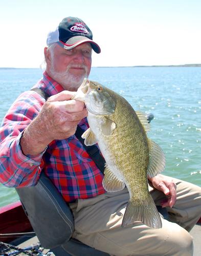
[(96, 53), (101, 52), (99, 45), (96, 44), (95, 41), (93, 41), (85, 36), (73, 36), (68, 41), (66, 41), (66, 42), (58, 41), (57, 44), (59, 44), (64, 49), (70, 50), (70, 49), (73, 49), (74, 47), (84, 44), (86, 42), (89, 42), (91, 44), (92, 49)]

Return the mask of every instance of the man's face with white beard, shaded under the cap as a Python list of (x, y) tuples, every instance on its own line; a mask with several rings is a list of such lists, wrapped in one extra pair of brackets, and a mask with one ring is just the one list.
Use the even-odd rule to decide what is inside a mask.
[(47, 61), (48, 74), (61, 84), (63, 89), (77, 91), (92, 65), (92, 47), (89, 43), (66, 50), (55, 45)]

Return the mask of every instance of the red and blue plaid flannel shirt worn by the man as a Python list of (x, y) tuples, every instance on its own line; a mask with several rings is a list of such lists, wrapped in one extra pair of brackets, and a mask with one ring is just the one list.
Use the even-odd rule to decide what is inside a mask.
[[(48, 95), (63, 91), (60, 84), (46, 72), (33, 88), (40, 88)], [(3, 119), (0, 129), (0, 182), (8, 187), (32, 186), (37, 183), (41, 170), (44, 170), (66, 202), (105, 193), (103, 174), (75, 135), (52, 141), (40, 155), (23, 154), (19, 143), (21, 135), (43, 104), (44, 99), (36, 92), (24, 92)], [(79, 125), (86, 130), (86, 118)]]

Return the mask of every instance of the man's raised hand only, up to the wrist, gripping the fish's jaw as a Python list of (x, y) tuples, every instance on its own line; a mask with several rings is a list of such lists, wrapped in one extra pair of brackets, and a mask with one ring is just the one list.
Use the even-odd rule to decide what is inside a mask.
[(45, 120), (45, 130), (50, 141), (74, 135), (77, 124), (86, 117), (84, 103), (71, 100), (74, 95), (74, 92), (63, 91), (51, 96), (38, 115), (38, 119)]

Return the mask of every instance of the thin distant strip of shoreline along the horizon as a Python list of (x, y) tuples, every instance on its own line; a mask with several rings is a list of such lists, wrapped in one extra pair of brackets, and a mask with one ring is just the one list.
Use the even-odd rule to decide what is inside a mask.
[[(183, 67), (183, 68), (189, 68), (189, 67), (201, 67), (200, 64), (184, 64), (184, 65), (152, 65), (152, 66), (103, 66), (103, 67), (93, 67), (93, 68), (177, 68), (177, 67)], [(7, 68), (3, 67), (0, 68), (0, 70), (8, 70), (8, 69), (39, 69), (39, 68)]]

